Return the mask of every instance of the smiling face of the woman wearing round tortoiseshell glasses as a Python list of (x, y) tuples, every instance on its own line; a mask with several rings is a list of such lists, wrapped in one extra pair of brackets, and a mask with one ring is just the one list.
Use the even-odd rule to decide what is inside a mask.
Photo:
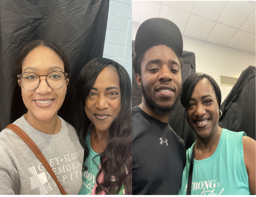
[[(51, 71), (64, 72), (64, 63), (54, 51), (44, 46), (33, 49), (22, 64), (22, 73), (34, 72), (37, 75), (47, 75)], [(21, 87), (22, 100), (28, 109), (29, 116), (47, 122), (56, 118), (63, 104), (69, 79), (66, 79), (59, 89), (49, 87), (45, 76), (42, 76), (40, 80), (35, 90), (26, 90)], [(18, 83), (21, 86), (20, 80)], [(42, 103), (42, 101), (47, 101), (47, 103)]]

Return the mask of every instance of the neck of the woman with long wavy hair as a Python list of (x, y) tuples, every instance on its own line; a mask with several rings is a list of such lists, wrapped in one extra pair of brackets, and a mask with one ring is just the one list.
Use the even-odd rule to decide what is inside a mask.
[(92, 150), (96, 153), (103, 153), (106, 149), (109, 138), (109, 130), (100, 131), (92, 125), (90, 133), (90, 144)]

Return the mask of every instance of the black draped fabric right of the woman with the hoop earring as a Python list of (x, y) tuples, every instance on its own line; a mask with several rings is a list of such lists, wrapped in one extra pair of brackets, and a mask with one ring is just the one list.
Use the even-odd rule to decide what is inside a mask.
[(255, 140), (255, 67), (249, 66), (239, 76), (237, 83), (220, 106), (223, 115), (219, 125)]

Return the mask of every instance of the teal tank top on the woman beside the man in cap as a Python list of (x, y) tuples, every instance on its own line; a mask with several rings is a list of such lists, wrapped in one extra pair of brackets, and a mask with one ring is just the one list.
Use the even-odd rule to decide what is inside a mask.
[[(204, 160), (194, 160), (192, 195), (250, 195), (248, 173), (243, 160), (245, 132), (223, 129), (216, 151)], [(194, 143), (195, 144), (195, 143)], [(192, 145), (186, 151), (179, 195), (186, 195)]]

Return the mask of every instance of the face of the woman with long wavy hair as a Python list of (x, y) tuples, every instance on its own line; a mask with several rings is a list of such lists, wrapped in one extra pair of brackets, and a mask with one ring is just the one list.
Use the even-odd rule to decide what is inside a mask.
[(112, 67), (105, 67), (85, 99), (85, 113), (95, 128), (109, 129), (121, 110), (119, 75)]

